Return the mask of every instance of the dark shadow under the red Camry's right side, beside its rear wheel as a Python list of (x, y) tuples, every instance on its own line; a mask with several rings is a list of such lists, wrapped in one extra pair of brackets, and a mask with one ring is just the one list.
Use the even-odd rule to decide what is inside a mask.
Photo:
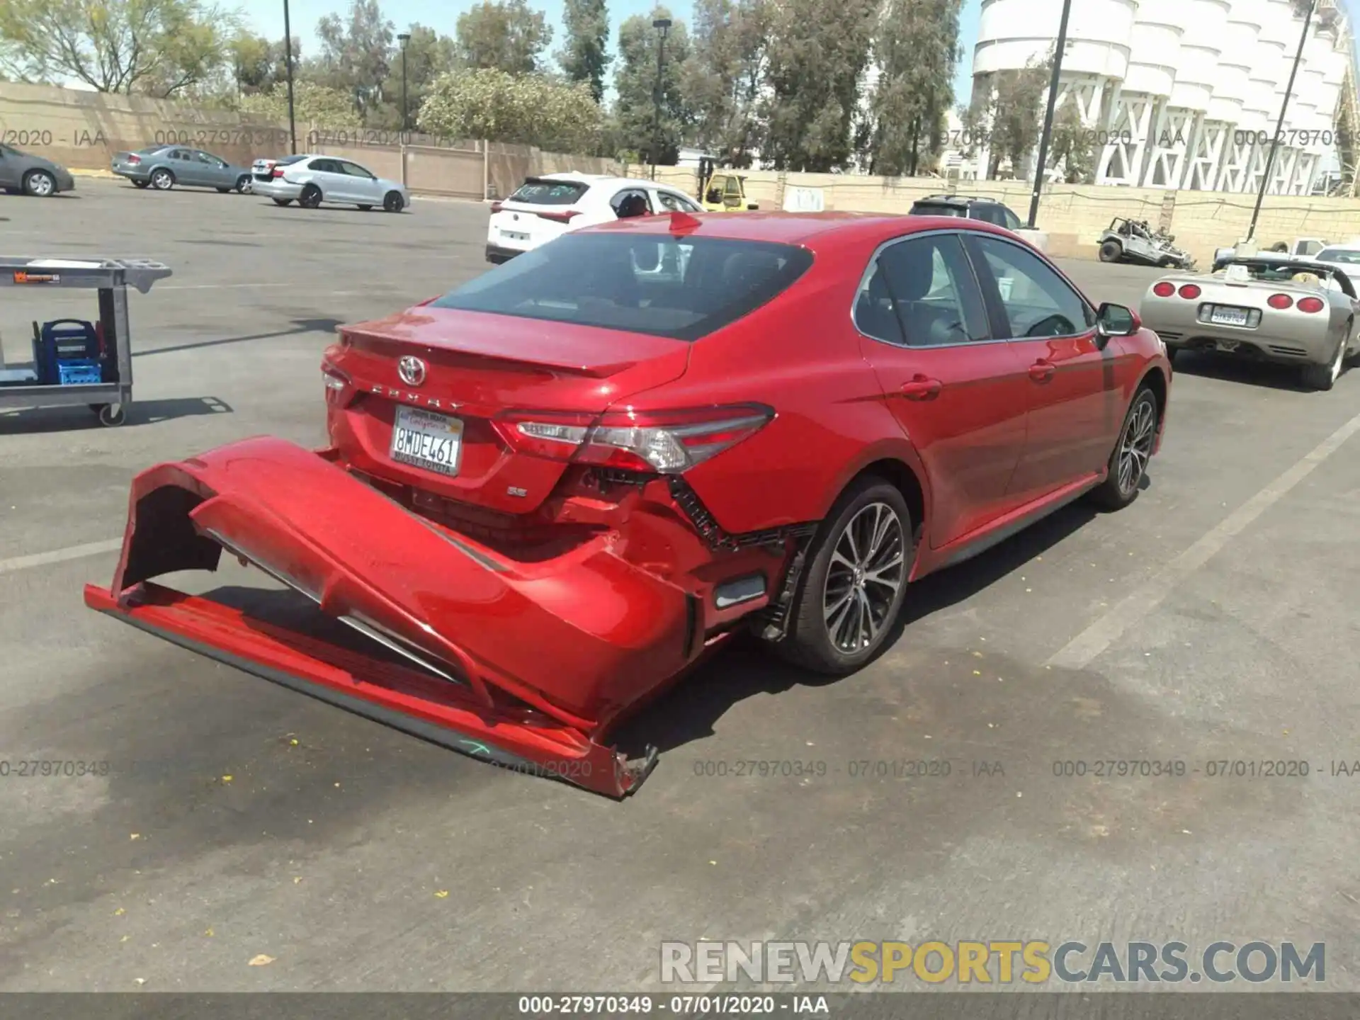
[[(1038, 521), (996, 548), (911, 585), (906, 604), (884, 645), (889, 654), (902, 631), (942, 609), (967, 601), (979, 592), (1042, 556), (1095, 518), (1098, 510), (1078, 500)], [(866, 664), (865, 668), (869, 668)], [(713, 658), (699, 664), (666, 694), (623, 722), (612, 740), (630, 756), (647, 745), (665, 753), (714, 734), (714, 724), (737, 702), (793, 687), (824, 687), (842, 679), (813, 673), (785, 662), (763, 642), (747, 634), (734, 636)]]

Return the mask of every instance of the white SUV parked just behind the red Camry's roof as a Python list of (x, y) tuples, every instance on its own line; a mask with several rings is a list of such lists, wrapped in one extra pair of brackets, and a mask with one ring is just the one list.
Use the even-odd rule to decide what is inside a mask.
[(609, 223), (628, 207), (642, 215), (703, 212), (684, 192), (656, 181), (575, 173), (530, 177), (509, 199), (491, 203), (487, 261), (505, 262), (568, 230)]

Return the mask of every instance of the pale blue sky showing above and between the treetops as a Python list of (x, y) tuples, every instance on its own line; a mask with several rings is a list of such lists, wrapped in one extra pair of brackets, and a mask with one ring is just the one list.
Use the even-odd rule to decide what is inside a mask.
[[(453, 35), (458, 15), (472, 7), (475, 0), (456, 0), (454, 3), (447, 0), (379, 0), (379, 3), (388, 18), (396, 23), (397, 31), (412, 22), (419, 22), (438, 33)], [(694, 12), (692, 0), (664, 0), (664, 3), (670, 7), (672, 15), (684, 22), (688, 22)], [(562, 0), (529, 0), (529, 5), (541, 10), (548, 16), (548, 24), (552, 26), (552, 50), (556, 50), (562, 42)], [(653, 5), (654, 0), (609, 0), (609, 15), (613, 20), (615, 34), (617, 34), (622, 20), (635, 14), (647, 14)], [(345, 10), (348, 10), (348, 0), (288, 0), (292, 34), (302, 41), (303, 56), (317, 53), (317, 22), (332, 12), (344, 15)], [(972, 45), (978, 41), (981, 10), (982, 0), (964, 0), (963, 16), (959, 23), (964, 54), (955, 82), (955, 95), (960, 101), (967, 99), (971, 91)], [(252, 22), (254, 31), (272, 39), (283, 38), (283, 0), (242, 0), (241, 11)]]

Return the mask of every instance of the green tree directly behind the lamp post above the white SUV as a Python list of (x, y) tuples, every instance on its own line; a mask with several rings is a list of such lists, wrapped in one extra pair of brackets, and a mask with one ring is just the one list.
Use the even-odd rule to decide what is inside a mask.
[[(653, 155), (658, 163), (675, 163), (694, 120), (685, 103), (681, 82), (690, 57), (690, 35), (681, 20), (672, 19), (665, 41), (661, 87), (657, 88), (657, 58), (661, 33), (651, 27), (670, 11), (657, 5), (649, 15), (632, 15), (619, 26), (619, 67), (613, 86), (619, 94), (615, 120), (619, 141), (627, 154)], [(661, 99), (661, 129), (657, 131), (657, 97)]]

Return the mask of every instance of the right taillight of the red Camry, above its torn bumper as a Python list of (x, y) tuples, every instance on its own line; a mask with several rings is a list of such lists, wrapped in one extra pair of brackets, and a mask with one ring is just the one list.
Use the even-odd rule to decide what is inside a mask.
[(760, 431), (774, 419), (759, 404), (601, 415), (513, 411), (496, 419), (517, 450), (623, 471), (679, 475)]

